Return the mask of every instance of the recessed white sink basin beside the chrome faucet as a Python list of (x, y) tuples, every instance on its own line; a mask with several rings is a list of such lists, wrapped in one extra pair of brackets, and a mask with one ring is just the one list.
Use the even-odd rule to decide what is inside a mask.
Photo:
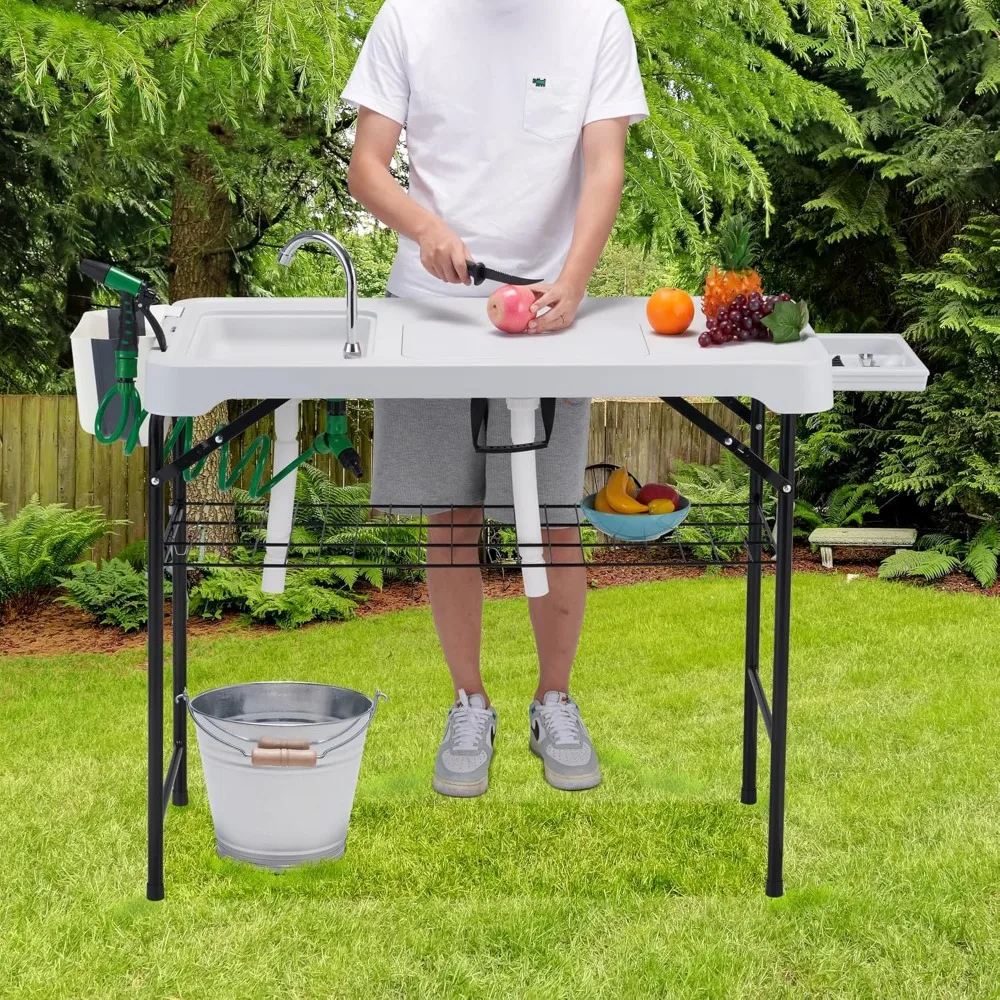
[[(375, 317), (359, 313), (354, 329), (361, 341), (362, 356), (367, 357)], [(232, 362), (242, 357), (253, 358), (258, 364), (280, 365), (289, 357), (306, 357), (327, 365), (344, 360), (346, 330), (345, 312), (323, 309), (294, 316), (278, 306), (252, 313), (212, 312), (198, 318), (187, 351), (206, 363)]]

